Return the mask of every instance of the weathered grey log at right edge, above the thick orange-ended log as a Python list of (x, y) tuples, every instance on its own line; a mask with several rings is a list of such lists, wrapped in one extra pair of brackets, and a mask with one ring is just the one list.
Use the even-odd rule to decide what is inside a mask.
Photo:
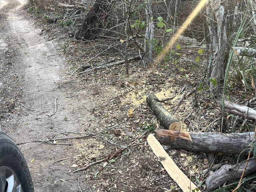
[[(239, 115), (243, 118), (247, 118), (250, 120), (256, 120), (256, 111), (250, 107), (238, 105), (236, 103), (231, 103), (229, 101), (225, 101), (225, 112)], [(248, 113), (247, 113), (248, 112)]]

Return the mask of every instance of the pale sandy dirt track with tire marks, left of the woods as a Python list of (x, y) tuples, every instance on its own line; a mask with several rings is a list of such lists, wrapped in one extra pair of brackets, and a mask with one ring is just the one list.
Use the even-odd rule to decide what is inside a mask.
[[(22, 6), (26, 1), (0, 2), (0, 92), (2, 89), (2, 96), (8, 100), (1, 101), (6, 105), (0, 119), (3, 131), (16, 143), (77, 131), (78, 116), (73, 101), (65, 89), (58, 89), (68, 77), (63, 75), (63, 60), (55, 43), (46, 42), (38, 35), (41, 30), (25, 19)], [(56, 97), (57, 112), (49, 117), (55, 111)], [(39, 143), (19, 146), (27, 159), (35, 191), (80, 191), (77, 175), (69, 170), (70, 162), (54, 163), (70, 155), (70, 146)], [(83, 190), (90, 191), (85, 185)]]

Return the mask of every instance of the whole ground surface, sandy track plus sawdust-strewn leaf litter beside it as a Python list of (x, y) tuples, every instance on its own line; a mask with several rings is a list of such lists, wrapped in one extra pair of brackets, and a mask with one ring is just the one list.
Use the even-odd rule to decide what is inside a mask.
[[(120, 65), (70, 76), (109, 40), (75, 42), (68, 37), (67, 29), (46, 24), (28, 14), (23, 9), (25, 0), (2, 2), (0, 122), (3, 131), (16, 143), (23, 143), (19, 147), (27, 159), (35, 191), (181, 191), (146, 143), (149, 133), (163, 127), (145, 98), (149, 93), (155, 93), (159, 99), (176, 93), (169, 105), (164, 104), (169, 111), (173, 110), (186, 84), (195, 87), (203, 75), (200, 65), (205, 60), (195, 62), (199, 42), (180, 38), (179, 53), (183, 55), (180, 63), (183, 64), (175, 72), (170, 72), (165, 65), (149, 73), (150, 70), (133, 61), (129, 63), (130, 75), (126, 75), (125, 66)], [(93, 62), (103, 62), (110, 57), (120, 59), (114, 51)], [(219, 102), (207, 90), (201, 92), (197, 102), (194, 107), (194, 95), (188, 96), (174, 113), (182, 124), (182, 131), (219, 131)], [(55, 106), (57, 111), (53, 114)], [(127, 111), (131, 108), (133, 115), (128, 117)], [(90, 135), (54, 144), (27, 143), (80, 136), (67, 132), (101, 132), (98, 135), (108, 141)], [(113, 143), (127, 146), (134, 141), (129, 150), (114, 160), (72, 172), (120, 149)], [(185, 150), (168, 153), (194, 183), (201, 184), (203, 191), (201, 182), (205, 177), (201, 173), (208, 167), (208, 154)], [(216, 163), (221, 159), (217, 156)], [(233, 161), (228, 155), (224, 160)]]

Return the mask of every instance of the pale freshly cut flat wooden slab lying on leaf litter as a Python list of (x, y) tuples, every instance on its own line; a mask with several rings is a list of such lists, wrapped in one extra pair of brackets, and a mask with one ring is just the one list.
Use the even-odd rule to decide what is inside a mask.
[[(172, 158), (167, 154), (165, 149), (152, 134), (148, 136), (147, 141), (157, 158), (164, 166), (165, 170), (184, 192), (192, 192), (192, 190), (197, 188), (194, 183), (192, 183), (190, 179), (180, 170), (180, 168), (175, 164)], [(198, 190), (198, 192), (200, 192), (200, 190)]]

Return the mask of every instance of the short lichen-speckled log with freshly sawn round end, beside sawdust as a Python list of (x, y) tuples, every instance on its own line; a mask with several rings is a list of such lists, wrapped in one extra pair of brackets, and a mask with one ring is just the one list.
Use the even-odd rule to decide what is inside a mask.
[(180, 131), (181, 123), (173, 117), (154, 94), (147, 95), (147, 102), (159, 121), (169, 130)]

